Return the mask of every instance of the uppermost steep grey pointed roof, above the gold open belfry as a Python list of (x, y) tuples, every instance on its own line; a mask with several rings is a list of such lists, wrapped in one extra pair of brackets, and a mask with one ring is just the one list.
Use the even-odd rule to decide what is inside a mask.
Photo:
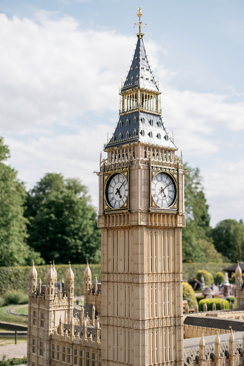
[(153, 72), (151, 71), (149, 62), (147, 60), (142, 38), (138, 38), (132, 64), (121, 91), (125, 91), (134, 87), (140, 87), (159, 92)]

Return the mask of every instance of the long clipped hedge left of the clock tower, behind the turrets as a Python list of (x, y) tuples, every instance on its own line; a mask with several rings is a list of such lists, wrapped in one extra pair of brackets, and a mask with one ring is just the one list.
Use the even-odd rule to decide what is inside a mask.
[[(68, 270), (68, 264), (57, 264), (55, 268), (57, 270), (57, 280), (60, 281), (64, 277)], [(75, 275), (75, 296), (83, 295), (83, 273), (86, 268), (86, 264), (71, 264), (72, 270)], [(98, 279), (101, 279), (101, 265), (89, 264), (91, 269), (92, 282), (97, 275)], [(20, 290), (23, 294), (28, 294), (28, 280), (30, 266), (16, 266), (16, 267), (0, 267), (0, 296), (5, 295), (6, 290)], [(41, 277), (41, 281), (46, 281), (46, 273), (48, 272), (49, 265), (35, 266), (37, 269), (37, 283)]]

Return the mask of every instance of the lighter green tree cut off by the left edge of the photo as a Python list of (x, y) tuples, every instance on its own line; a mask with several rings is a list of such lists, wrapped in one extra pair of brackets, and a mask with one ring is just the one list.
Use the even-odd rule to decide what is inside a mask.
[(27, 220), (24, 217), (26, 191), (17, 172), (4, 161), (10, 150), (0, 138), (0, 266), (37, 264), (44, 261), (26, 244)]

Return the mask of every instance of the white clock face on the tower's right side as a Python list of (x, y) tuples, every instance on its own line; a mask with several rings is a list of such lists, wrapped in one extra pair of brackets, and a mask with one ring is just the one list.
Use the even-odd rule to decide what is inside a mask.
[(154, 176), (151, 191), (154, 202), (161, 208), (170, 207), (176, 199), (176, 184), (165, 173), (158, 173)]

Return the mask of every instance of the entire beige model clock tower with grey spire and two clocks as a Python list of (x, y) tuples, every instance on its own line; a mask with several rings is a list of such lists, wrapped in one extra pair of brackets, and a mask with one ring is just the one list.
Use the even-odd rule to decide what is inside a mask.
[(137, 25), (119, 122), (98, 173), (102, 365), (182, 366), (183, 164)]

